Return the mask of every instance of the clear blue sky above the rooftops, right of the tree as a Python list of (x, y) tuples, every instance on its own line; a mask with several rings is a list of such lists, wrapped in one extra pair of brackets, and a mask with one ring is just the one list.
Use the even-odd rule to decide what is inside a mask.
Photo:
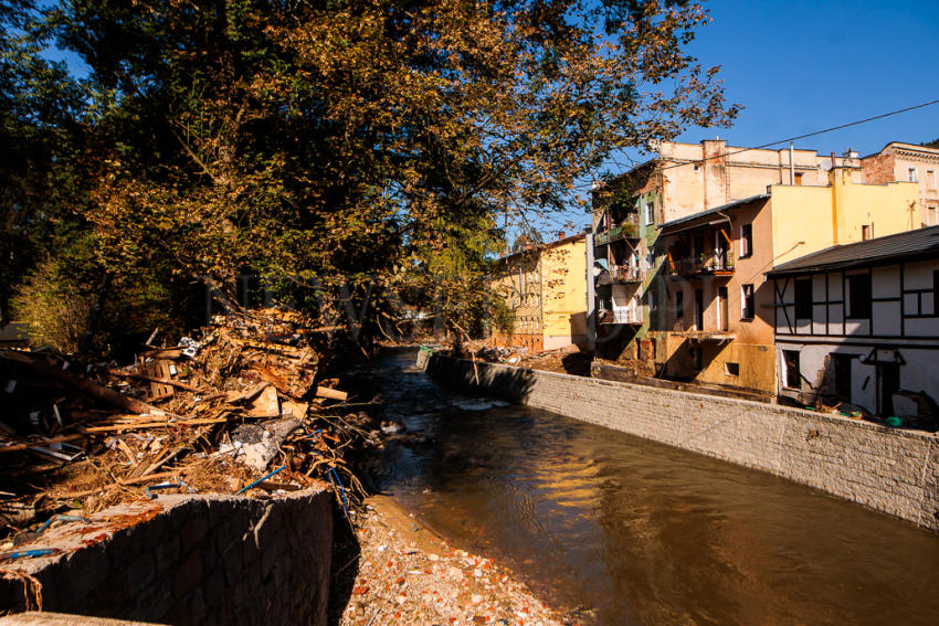
[[(692, 129), (753, 146), (939, 98), (939, 2), (714, 0), (690, 52), (721, 65), (730, 129)], [(939, 138), (939, 105), (796, 141), (862, 155), (889, 141)]]

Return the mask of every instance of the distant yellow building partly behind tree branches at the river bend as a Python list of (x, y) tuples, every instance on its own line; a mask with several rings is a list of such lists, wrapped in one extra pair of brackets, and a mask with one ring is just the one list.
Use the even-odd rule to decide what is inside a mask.
[(499, 259), (490, 287), (515, 314), (510, 330), (496, 330), (503, 348), (531, 352), (587, 343), (584, 235), (559, 237)]

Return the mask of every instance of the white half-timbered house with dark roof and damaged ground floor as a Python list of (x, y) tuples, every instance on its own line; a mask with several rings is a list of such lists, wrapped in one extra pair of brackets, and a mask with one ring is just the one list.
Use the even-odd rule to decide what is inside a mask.
[(781, 396), (900, 417), (922, 413), (922, 393), (939, 401), (939, 227), (830, 247), (767, 277)]

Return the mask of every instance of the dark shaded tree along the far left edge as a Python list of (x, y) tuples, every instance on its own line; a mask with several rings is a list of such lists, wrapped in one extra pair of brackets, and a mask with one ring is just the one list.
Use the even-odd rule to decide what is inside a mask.
[(44, 35), (27, 0), (0, 0), (0, 326), (19, 280), (74, 229), (82, 91), (41, 55)]

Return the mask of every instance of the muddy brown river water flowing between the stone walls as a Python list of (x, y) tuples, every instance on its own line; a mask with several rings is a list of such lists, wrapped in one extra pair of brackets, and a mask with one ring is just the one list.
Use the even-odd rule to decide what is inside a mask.
[[(595, 624), (939, 624), (939, 535), (759, 471), (371, 363), (373, 480)], [(421, 442), (420, 439), (428, 439)]]

